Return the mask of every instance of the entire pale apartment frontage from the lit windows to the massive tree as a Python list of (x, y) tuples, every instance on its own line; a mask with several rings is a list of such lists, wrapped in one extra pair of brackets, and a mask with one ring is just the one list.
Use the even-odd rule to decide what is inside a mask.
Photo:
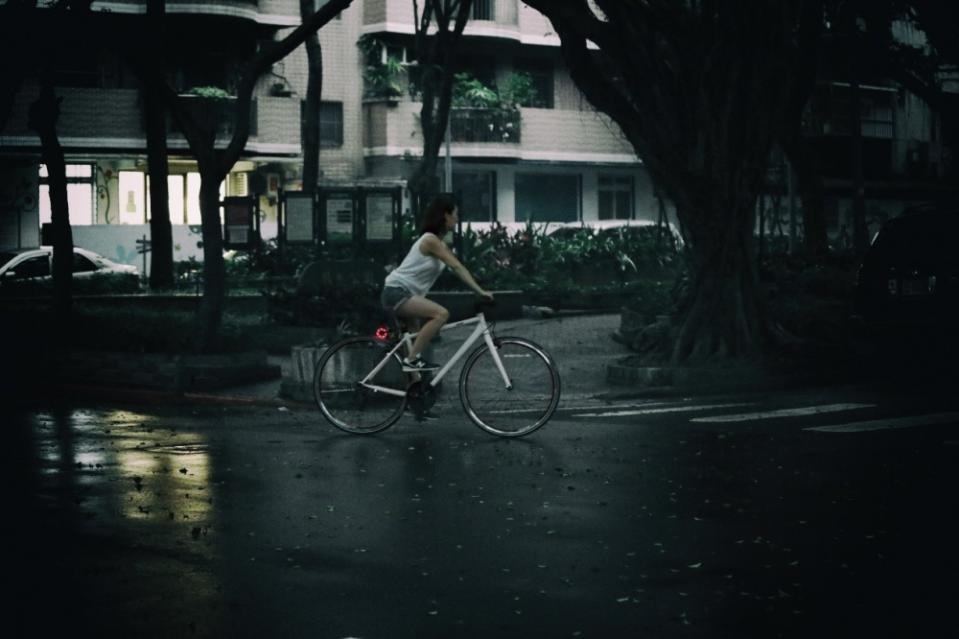
[[(324, 0), (317, 0), (320, 5)], [(421, 3), (422, 4), (422, 3)], [(144, 0), (97, 1), (94, 12), (116, 24), (146, 10)], [(165, 55), (177, 89), (227, 92), (239, 61), (259, 42), (283, 37), (300, 23), (298, 0), (167, 2)], [(402, 184), (422, 154), (421, 104), (409, 90), (415, 75), (412, 0), (356, 0), (320, 32), (324, 53), (321, 180), (327, 186)], [(361, 38), (397, 56), (400, 95), (378, 96), (364, 72)], [(91, 38), (90, 40), (96, 40)], [(463, 219), (480, 222), (652, 218), (658, 204), (642, 163), (618, 128), (583, 99), (563, 68), (549, 22), (518, 0), (477, 0), (461, 49), (461, 71), (492, 89), (522, 71), (535, 99), (511, 116), (509, 135), (490, 110), (457, 107), (438, 179), (459, 193)], [(108, 43), (64, 50), (55, 64), (63, 98), (58, 126), (69, 174), (75, 242), (121, 262), (134, 262), (135, 241), (149, 237), (149, 174), (142, 94), (131, 69)], [(255, 94), (244, 155), (222, 185), (224, 195), (259, 197), (262, 232), (276, 233), (278, 195), (302, 185), (301, 104), (306, 94), (304, 47), (274, 65)], [(0, 246), (40, 243), (49, 222), (39, 140), (27, 126), (39, 87), (29, 79), (0, 131)], [(226, 125), (220, 137), (226, 140)], [(199, 174), (183, 137), (172, 127), (170, 216), (175, 259), (201, 257)], [(444, 150), (444, 154), (446, 151)], [(407, 205), (408, 208), (408, 205)]]

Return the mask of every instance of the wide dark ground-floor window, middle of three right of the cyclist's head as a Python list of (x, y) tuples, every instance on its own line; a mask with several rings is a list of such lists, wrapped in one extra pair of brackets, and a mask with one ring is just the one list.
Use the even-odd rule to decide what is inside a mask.
[(516, 174), (517, 222), (575, 222), (580, 219), (580, 176)]

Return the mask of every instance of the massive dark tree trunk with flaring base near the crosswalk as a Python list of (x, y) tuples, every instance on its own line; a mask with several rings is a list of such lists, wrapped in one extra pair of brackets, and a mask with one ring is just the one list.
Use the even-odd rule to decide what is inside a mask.
[(530, 0), (587, 100), (675, 203), (692, 281), (672, 359), (760, 354), (754, 207), (799, 90), (799, 0)]

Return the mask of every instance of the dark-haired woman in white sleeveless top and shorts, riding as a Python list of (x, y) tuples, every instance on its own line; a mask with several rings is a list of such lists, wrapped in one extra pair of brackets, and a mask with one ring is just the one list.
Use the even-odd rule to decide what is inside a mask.
[(456, 228), (456, 203), (449, 196), (438, 196), (430, 202), (420, 223), (420, 237), (413, 243), (406, 258), (386, 276), (380, 302), (399, 318), (425, 320), (410, 352), (403, 359), (406, 372), (432, 371), (439, 367), (424, 360), (420, 353), (449, 319), (449, 311), (426, 299), (444, 266), (450, 267), (463, 282), (488, 300), (493, 294), (473, 279), (469, 270), (456, 259), (443, 242), (447, 232)]

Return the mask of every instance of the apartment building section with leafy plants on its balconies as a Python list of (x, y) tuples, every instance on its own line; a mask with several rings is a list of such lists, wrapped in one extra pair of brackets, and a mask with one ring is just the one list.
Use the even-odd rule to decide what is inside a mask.
[[(362, 154), (368, 175), (404, 176), (422, 153), (410, 0), (366, 0), (361, 32), (407, 66), (403, 94), (363, 101)], [(533, 93), (518, 112), (454, 106), (448, 152), (464, 220), (537, 222), (655, 218), (647, 172), (618, 127), (585, 101), (564, 68), (559, 39), (538, 12), (517, 0), (478, 0), (464, 32), (459, 68), (503, 89), (524, 74)], [(402, 80), (402, 79), (401, 79)], [(446, 154), (444, 149), (442, 155)], [(445, 159), (445, 158), (443, 158)], [(444, 162), (441, 161), (441, 167)]]

